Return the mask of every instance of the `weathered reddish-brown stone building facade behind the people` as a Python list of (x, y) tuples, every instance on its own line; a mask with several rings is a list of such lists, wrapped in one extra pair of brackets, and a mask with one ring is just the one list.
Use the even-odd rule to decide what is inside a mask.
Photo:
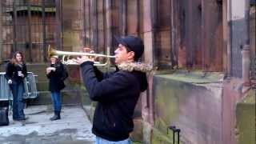
[(133, 34), (144, 40), (142, 61), (154, 66), (135, 141), (172, 143), (167, 129), (176, 126), (182, 143), (255, 142), (254, 1), (56, 0), (50, 10), (33, 2), (7, 9), (2, 1), (2, 60), (20, 49), (28, 61), (45, 62), (49, 44), (114, 54), (114, 36)]

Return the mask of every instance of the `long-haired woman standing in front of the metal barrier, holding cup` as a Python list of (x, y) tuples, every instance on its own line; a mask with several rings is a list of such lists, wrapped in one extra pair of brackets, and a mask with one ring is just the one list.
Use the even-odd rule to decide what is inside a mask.
[(26, 120), (23, 110), (23, 94), (25, 92), (23, 81), (26, 75), (26, 63), (23, 54), (21, 51), (17, 51), (6, 66), (6, 78), (13, 94), (13, 119), (16, 121)]

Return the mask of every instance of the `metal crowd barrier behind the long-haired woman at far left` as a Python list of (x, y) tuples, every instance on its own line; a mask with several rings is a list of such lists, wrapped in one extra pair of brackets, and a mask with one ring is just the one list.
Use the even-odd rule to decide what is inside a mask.
[[(10, 91), (10, 86), (5, 77), (5, 72), (0, 72), (0, 101), (12, 100), (13, 95)], [(36, 86), (36, 75), (32, 72), (27, 73), (27, 77), (24, 80), (25, 93), (23, 98), (37, 98), (38, 90)]]

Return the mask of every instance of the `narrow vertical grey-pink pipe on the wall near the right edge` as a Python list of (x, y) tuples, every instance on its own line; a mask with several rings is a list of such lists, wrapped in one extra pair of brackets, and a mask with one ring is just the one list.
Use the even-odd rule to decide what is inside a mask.
[(242, 82), (250, 86), (250, 0), (245, 0), (246, 43), (242, 46)]

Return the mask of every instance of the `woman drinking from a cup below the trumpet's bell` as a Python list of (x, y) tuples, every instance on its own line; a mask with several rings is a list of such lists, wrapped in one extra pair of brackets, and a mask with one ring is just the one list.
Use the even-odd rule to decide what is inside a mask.
[(50, 56), (50, 66), (46, 68), (46, 75), (49, 78), (49, 90), (54, 104), (54, 116), (50, 118), (55, 121), (61, 118), (62, 98), (60, 91), (65, 87), (63, 73), (65, 68), (62, 62), (59, 61), (58, 55)]

